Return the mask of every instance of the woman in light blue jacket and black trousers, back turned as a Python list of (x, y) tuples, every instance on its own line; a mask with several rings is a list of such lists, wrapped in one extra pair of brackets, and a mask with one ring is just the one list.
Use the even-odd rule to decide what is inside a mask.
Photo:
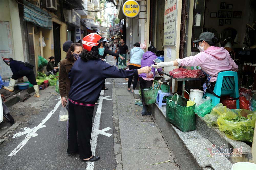
[[(141, 68), (141, 58), (143, 54), (144, 54), (144, 51), (140, 48), (140, 43), (136, 42), (135, 44), (133, 44), (133, 48), (131, 49), (131, 59), (129, 64), (129, 70)], [(138, 76), (134, 76), (132, 93), (137, 86), (138, 78), (139, 78)], [(127, 89), (128, 92), (131, 91), (132, 79), (133, 77), (128, 78), (128, 89)]]

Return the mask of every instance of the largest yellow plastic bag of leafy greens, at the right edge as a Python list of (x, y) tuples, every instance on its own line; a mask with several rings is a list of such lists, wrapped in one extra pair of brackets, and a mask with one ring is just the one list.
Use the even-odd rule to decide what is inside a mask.
[(256, 114), (249, 110), (236, 109), (218, 118), (219, 130), (231, 139), (252, 142)]

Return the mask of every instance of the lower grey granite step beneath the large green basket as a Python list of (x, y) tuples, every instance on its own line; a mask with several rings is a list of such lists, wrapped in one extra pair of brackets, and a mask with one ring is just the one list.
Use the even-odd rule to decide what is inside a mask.
[(156, 104), (152, 104), (150, 110), (157, 126), (162, 130), (167, 140), (169, 149), (173, 151), (177, 160), (179, 160), (178, 164), (182, 169), (231, 169), (232, 163), (226, 157), (210, 156), (207, 149), (211, 149), (213, 143), (202, 136), (198, 130), (184, 133), (173, 124), (167, 122), (165, 120), (166, 106), (159, 108)]

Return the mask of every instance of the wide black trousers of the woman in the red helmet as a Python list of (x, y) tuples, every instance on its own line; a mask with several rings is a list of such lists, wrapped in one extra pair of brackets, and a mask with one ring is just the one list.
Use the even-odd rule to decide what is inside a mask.
[[(91, 132), (92, 132), (93, 107), (85, 107), (68, 104), (68, 149), (73, 153), (79, 150), (79, 158), (86, 159), (92, 156)], [(78, 139), (78, 143), (77, 143)]]

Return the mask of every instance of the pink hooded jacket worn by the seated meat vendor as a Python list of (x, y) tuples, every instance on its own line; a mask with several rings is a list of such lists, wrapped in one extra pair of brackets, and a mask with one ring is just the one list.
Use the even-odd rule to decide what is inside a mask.
[(211, 46), (195, 56), (177, 59), (179, 66), (200, 66), (211, 76), (210, 82), (217, 80), (220, 71), (237, 71), (237, 65), (223, 47)]

